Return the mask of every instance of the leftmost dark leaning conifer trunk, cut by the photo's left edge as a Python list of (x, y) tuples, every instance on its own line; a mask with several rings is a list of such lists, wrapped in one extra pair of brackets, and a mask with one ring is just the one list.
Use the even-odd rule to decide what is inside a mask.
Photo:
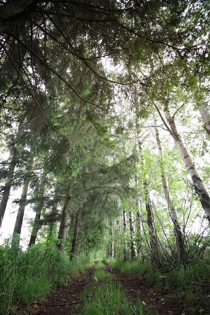
[(5, 183), (5, 186), (4, 186), (4, 192), (2, 194), (2, 201), (0, 204), (0, 227), (2, 226), (2, 221), (3, 221), (4, 215), (5, 215), (5, 210), (6, 210), (8, 199), (10, 196), (10, 190), (11, 190), (11, 186), (13, 183), (16, 164), (17, 164), (17, 149), (16, 149), (16, 147), (14, 147), (13, 153), (12, 153), (12, 159), (10, 162), (10, 168), (8, 171), (8, 177), (7, 177), (7, 181)]

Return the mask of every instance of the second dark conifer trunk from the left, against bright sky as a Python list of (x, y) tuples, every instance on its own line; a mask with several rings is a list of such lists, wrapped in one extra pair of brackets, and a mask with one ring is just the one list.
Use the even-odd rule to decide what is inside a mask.
[[(29, 183), (30, 183), (30, 177), (31, 177), (31, 170), (32, 170), (32, 159), (30, 160), (30, 165), (26, 171), (25, 174), (25, 179), (24, 179), (24, 184), (23, 184), (23, 189), (22, 189), (22, 194), (21, 194), (21, 200), (20, 200), (20, 205), (18, 209), (18, 214), (16, 218), (16, 223), (15, 223), (15, 228), (13, 232), (13, 239), (15, 240), (16, 246), (19, 246), (20, 242), (20, 234), (21, 234), (21, 228), (22, 228), (22, 223), (23, 223), (23, 217), (24, 217), (24, 211), (26, 207), (26, 199), (27, 199), (27, 193), (28, 193), (28, 188), (29, 188)], [(19, 234), (19, 235), (17, 235)]]

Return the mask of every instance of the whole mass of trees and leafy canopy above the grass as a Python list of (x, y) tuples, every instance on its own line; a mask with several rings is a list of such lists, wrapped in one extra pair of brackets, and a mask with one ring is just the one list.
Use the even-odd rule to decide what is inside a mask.
[(161, 266), (209, 250), (209, 11), (0, 2), (0, 222), (21, 189), (18, 246), (30, 208), (29, 246), (55, 230), (70, 259)]

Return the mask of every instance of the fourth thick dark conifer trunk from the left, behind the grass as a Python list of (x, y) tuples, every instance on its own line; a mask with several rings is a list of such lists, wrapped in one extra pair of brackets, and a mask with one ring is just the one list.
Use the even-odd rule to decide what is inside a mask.
[(66, 234), (68, 229), (68, 218), (69, 218), (69, 188), (66, 190), (65, 199), (64, 199), (64, 205), (61, 213), (61, 221), (60, 221), (60, 228), (58, 231), (58, 249), (63, 252), (65, 247), (65, 241), (66, 241)]

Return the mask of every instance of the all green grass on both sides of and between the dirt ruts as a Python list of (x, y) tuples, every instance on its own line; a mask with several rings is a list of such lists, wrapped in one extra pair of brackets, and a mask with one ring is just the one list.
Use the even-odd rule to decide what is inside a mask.
[[(150, 262), (105, 259), (97, 261), (91, 285), (84, 292), (81, 314), (147, 314), (140, 300), (134, 305), (127, 299), (124, 288), (105, 270), (107, 264), (126, 275), (144, 278), (158, 290), (168, 290), (181, 299), (191, 313), (209, 314), (208, 261), (192, 261), (185, 266), (177, 264), (164, 272)], [(13, 248), (9, 242), (0, 246), (0, 314), (18, 314), (35, 300), (47, 297), (57, 286), (67, 285), (72, 275), (83, 273), (90, 265), (92, 262), (82, 257), (70, 262), (49, 240), (26, 252)]]

